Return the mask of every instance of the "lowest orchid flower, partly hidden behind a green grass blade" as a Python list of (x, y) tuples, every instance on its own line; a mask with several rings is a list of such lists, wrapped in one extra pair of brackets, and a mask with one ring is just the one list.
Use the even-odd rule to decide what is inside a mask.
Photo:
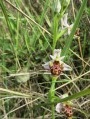
[[(66, 97), (68, 97), (68, 94), (64, 94), (60, 98), (63, 99), (63, 98), (66, 98)], [(67, 117), (72, 117), (72, 115), (73, 115), (72, 105), (73, 104), (72, 104), (71, 101), (67, 101), (67, 102), (64, 102), (64, 103), (58, 103), (56, 105), (56, 111), (58, 113), (63, 112)]]

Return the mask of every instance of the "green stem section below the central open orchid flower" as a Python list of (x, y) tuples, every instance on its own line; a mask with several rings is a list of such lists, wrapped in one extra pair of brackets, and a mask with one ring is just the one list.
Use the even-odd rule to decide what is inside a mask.
[[(57, 79), (57, 77), (52, 77), (52, 84), (51, 84), (51, 88), (50, 88), (50, 91), (49, 91), (49, 99), (50, 99), (51, 103), (54, 102), (54, 98), (55, 98), (55, 83), (56, 83), (56, 79)], [(55, 107), (54, 107), (54, 104), (51, 105), (51, 109), (52, 109), (52, 119), (55, 119)]]

